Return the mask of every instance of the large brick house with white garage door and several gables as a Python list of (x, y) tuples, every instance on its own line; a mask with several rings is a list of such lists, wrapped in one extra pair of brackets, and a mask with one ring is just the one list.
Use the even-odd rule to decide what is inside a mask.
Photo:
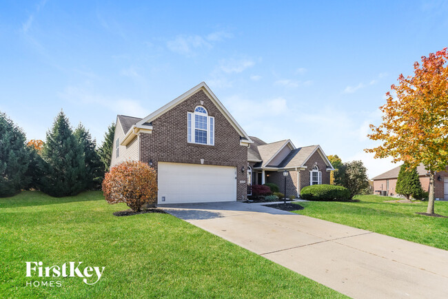
[(333, 168), (318, 145), (252, 138), (201, 83), (145, 118), (117, 116), (110, 164), (154, 167), (159, 204), (245, 200), (253, 183), (283, 186), (284, 169), (287, 195), (329, 183)]

